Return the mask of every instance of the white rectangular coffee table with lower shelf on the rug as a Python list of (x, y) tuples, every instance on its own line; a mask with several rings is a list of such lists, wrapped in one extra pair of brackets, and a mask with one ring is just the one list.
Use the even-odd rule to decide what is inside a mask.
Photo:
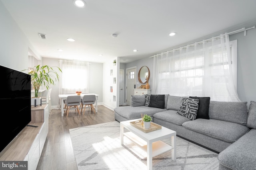
[[(124, 136), (128, 137), (142, 149), (147, 152), (147, 169), (152, 170), (152, 157), (162, 154), (172, 149), (172, 160), (176, 160), (176, 131), (172, 131), (162, 126), (162, 129), (144, 133), (136, 127), (130, 125), (131, 121), (140, 121), (141, 119), (134, 119), (120, 122), (120, 139), (121, 145), (124, 145)], [(124, 127), (129, 132), (124, 133)], [(160, 141), (166, 138), (171, 138), (171, 146)], [(141, 140), (143, 139), (143, 140)]]

